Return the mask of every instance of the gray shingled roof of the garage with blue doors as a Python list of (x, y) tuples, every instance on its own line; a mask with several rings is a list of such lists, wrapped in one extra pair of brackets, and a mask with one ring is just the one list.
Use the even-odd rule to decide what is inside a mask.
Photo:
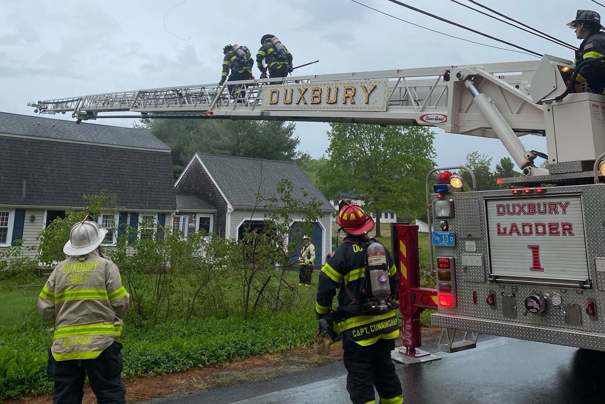
[[(197, 155), (234, 207), (253, 207), (259, 191), (264, 197), (272, 196), (277, 190), (278, 182), (286, 178), (292, 182), (293, 197), (299, 200), (309, 200), (310, 197), (315, 197), (318, 202), (321, 202), (322, 210), (334, 210), (330, 201), (295, 162), (206, 153), (197, 153)], [(261, 180), (262, 185), (259, 188)], [(304, 188), (309, 197), (304, 198), (300, 188)]]

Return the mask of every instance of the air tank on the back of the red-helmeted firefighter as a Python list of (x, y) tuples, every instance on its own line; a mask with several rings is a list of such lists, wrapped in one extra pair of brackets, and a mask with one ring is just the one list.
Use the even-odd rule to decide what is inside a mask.
[(370, 277), (370, 290), (366, 290), (368, 300), (367, 309), (373, 313), (382, 313), (391, 310), (389, 304), (391, 286), (388, 282), (387, 252), (381, 243), (368, 245), (366, 271)]

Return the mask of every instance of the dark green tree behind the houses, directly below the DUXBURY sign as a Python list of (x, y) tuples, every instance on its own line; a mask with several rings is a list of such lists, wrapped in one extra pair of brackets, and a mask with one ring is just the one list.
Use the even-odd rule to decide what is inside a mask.
[(295, 124), (245, 120), (142, 120), (148, 129), (172, 149), (175, 178), (195, 153), (294, 161), (300, 139)]

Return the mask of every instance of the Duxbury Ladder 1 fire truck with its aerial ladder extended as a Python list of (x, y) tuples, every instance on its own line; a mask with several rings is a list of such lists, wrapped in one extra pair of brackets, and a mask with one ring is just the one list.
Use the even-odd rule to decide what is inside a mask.
[[(417, 279), (417, 226), (394, 225), (404, 344), (420, 345), (419, 312), (435, 308), (445, 351), (479, 333), (605, 351), (605, 97), (567, 94), (569, 60), (307, 75), (83, 95), (30, 103), (36, 112), (99, 118), (203, 118), (424, 125), (498, 138), (523, 172), (503, 189), (460, 187), (436, 168), (431, 268)], [(239, 88), (230, 92), (227, 84)], [(134, 115), (133, 115), (134, 114)], [(546, 137), (546, 153), (519, 136)], [(540, 168), (535, 158), (548, 159)], [(605, 170), (604, 170), (605, 171)], [(472, 173), (471, 173), (472, 175)], [(603, 311), (603, 313), (600, 313)], [(462, 341), (454, 341), (462, 330)]]

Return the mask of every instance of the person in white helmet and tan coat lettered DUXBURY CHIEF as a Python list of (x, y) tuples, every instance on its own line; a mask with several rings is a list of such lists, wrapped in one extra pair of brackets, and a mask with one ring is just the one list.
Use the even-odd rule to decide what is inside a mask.
[(81, 404), (87, 376), (99, 404), (122, 404), (122, 344), (116, 338), (129, 295), (117, 266), (100, 254), (107, 230), (87, 219), (71, 226), (63, 248), (68, 257), (38, 298), (38, 311), (54, 332), (47, 373), (54, 379), (54, 404)]

